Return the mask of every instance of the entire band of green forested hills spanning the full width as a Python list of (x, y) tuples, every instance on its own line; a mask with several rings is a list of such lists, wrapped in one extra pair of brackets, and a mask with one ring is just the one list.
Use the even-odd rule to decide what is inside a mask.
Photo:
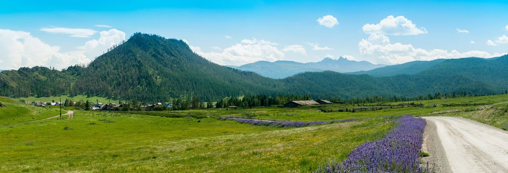
[[(181, 40), (136, 33), (86, 67), (71, 66), (62, 71), (46, 67), (2, 71), (0, 95), (88, 95), (145, 101), (192, 96), (216, 100), (254, 95), (346, 99), (416, 97), (438, 92), (482, 95), (504, 93), (508, 89), (506, 55), (431, 63), (423, 63), (422, 68), (409, 74), (391, 70), (387, 72), (390, 76), (385, 77), (325, 71), (271, 79), (214, 64), (194, 53)], [(415, 65), (418, 63), (411, 66)]]

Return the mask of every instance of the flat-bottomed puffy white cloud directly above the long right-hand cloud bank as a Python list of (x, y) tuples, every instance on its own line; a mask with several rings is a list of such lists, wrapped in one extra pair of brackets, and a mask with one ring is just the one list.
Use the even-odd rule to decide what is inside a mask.
[(404, 16), (388, 16), (378, 24), (363, 25), (363, 32), (368, 34), (406, 36), (425, 34), (427, 30), (425, 27), (418, 28), (416, 24)]

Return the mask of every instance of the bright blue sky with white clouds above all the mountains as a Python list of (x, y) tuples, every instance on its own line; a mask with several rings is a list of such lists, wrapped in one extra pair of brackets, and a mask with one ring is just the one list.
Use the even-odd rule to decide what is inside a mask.
[(0, 69), (86, 64), (135, 32), (184, 39), (222, 65), (492, 57), (508, 52), (506, 9), (506, 1), (12, 1), (0, 7)]

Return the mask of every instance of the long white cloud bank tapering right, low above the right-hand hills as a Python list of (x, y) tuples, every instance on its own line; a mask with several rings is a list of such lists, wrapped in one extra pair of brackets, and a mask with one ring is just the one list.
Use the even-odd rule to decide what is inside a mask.
[(385, 35), (371, 34), (368, 39), (362, 39), (358, 43), (360, 54), (364, 55), (368, 61), (377, 64), (400, 64), (410, 61), (422, 60), (429, 61), (435, 59), (452, 59), (460, 57), (494, 57), (504, 53), (488, 53), (485, 51), (472, 50), (459, 52), (457, 50), (415, 48), (411, 44), (390, 43), (390, 39)]

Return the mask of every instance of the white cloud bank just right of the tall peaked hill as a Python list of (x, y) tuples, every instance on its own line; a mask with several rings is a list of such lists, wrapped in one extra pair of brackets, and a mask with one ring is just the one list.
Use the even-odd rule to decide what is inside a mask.
[[(189, 45), (188, 41), (183, 41)], [(200, 47), (189, 45), (195, 53), (220, 65), (243, 65), (257, 61), (281, 60), (285, 54), (276, 46), (277, 43), (256, 38), (243, 39), (241, 43), (224, 48), (220, 52), (204, 52)]]

